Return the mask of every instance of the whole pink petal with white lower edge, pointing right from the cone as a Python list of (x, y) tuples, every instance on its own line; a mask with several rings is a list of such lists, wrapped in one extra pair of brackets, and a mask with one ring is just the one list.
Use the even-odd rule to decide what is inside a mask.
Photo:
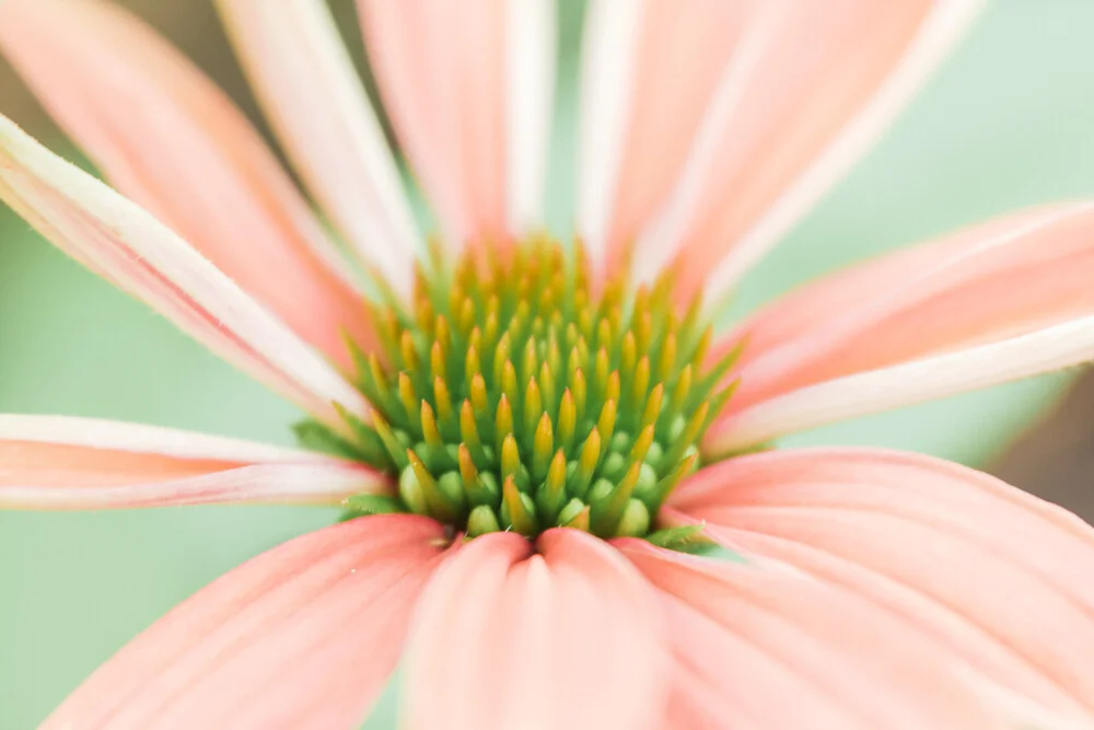
[[(1094, 314), (1094, 292), (1087, 286), (1094, 276), (1092, 233), (1094, 207), (1089, 204), (1038, 209), (899, 251), (803, 287), (752, 317), (715, 348), (724, 350), (748, 338), (734, 374), (741, 378), (741, 387), (728, 417), (713, 429), (711, 443), (740, 444), (764, 438), (759, 430), (801, 428), (795, 419), (806, 416), (799, 412), (816, 407), (825, 394), (807, 389), (840, 378), (848, 380), (824, 403), (831, 415), (823, 413), (817, 418), (843, 416), (843, 409), (856, 415), (892, 407), (886, 396), (903, 405), (956, 391), (956, 384), (943, 385), (969, 370), (962, 367), (963, 350), (1046, 332)], [(1072, 352), (1061, 363), (1049, 362), (1044, 341), (1019, 343), (1019, 351), (1009, 354), (994, 380), (1012, 380), (1091, 357), (1080, 338), (1072, 335), (1069, 340)], [(946, 354), (953, 354), (954, 367), (930, 378), (909, 373), (892, 389), (878, 384), (868, 392), (870, 380), (852, 379)], [(990, 360), (1002, 366), (1002, 352), (999, 356)], [(965, 387), (991, 384), (989, 370), (982, 373), (986, 382), (974, 380)], [(776, 403), (767, 402), (788, 394), (793, 401), (780, 402), (776, 418)], [(870, 403), (860, 403), (868, 396)]]

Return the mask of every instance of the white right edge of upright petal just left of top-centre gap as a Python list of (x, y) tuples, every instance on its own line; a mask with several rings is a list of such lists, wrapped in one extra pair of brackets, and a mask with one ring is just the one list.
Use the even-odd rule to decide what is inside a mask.
[(509, 0), (505, 10), (509, 228), (520, 234), (544, 225), (558, 23), (555, 0)]

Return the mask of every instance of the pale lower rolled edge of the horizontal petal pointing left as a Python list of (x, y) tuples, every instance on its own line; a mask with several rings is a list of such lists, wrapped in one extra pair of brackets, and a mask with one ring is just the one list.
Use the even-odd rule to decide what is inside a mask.
[(349, 464), (254, 464), (149, 484), (56, 487), (0, 484), (0, 509), (100, 510), (184, 505), (338, 505), (384, 494), (379, 473)]

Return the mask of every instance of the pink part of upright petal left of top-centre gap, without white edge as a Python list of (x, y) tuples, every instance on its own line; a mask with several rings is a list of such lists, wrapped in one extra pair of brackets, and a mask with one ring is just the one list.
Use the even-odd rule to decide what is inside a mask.
[(505, 230), (502, 0), (361, 0), (399, 138), (453, 245)]

